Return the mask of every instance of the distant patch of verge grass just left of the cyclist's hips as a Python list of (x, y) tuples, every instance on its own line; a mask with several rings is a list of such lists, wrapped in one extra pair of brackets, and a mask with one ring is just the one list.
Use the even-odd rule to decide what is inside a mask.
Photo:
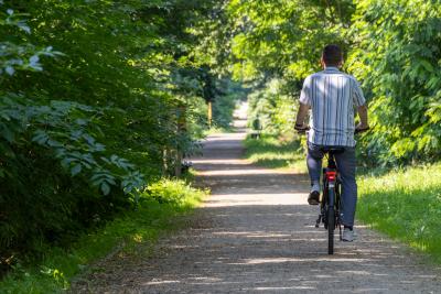
[(260, 139), (245, 140), (245, 157), (260, 166), (270, 168), (294, 168), (306, 172), (305, 156), (299, 141), (281, 141), (277, 137), (263, 134)]

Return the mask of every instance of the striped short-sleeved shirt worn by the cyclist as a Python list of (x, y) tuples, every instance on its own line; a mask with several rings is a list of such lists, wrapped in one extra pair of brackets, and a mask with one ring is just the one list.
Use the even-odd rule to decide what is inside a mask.
[(355, 146), (354, 109), (366, 101), (353, 76), (330, 66), (310, 75), (304, 80), (300, 102), (311, 107), (309, 142)]

